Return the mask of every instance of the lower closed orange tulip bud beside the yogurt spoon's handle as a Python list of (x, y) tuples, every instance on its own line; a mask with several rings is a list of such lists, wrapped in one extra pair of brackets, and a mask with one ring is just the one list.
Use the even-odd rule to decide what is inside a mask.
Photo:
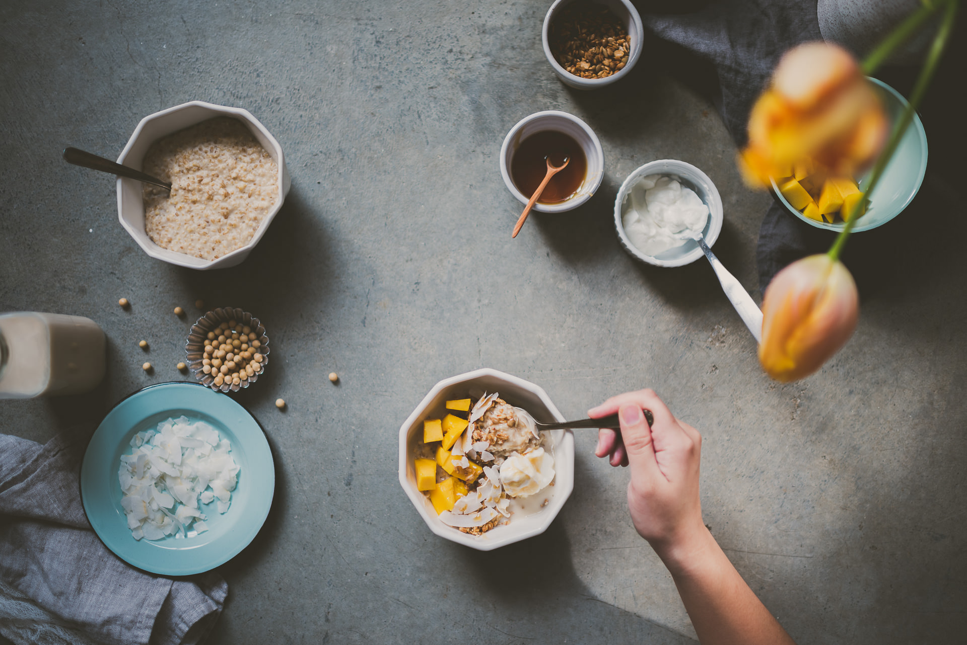
[(783, 382), (818, 370), (853, 334), (859, 302), (853, 276), (826, 254), (783, 268), (762, 300), (762, 368)]

